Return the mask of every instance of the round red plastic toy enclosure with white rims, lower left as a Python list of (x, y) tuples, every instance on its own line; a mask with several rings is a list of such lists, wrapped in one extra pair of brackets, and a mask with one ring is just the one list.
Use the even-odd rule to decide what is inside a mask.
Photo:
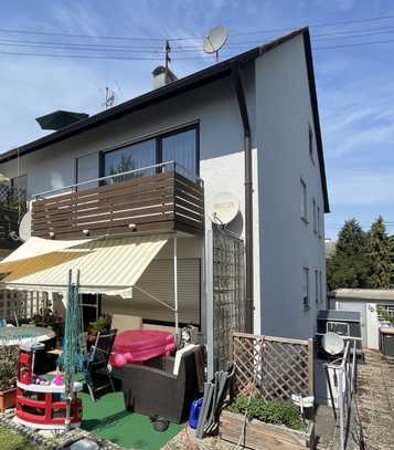
[[(82, 401), (76, 393), (83, 388), (82, 383), (74, 383), (74, 398), (71, 402), (71, 427), (81, 426)], [(25, 385), (17, 383), (15, 421), (31, 428), (43, 430), (64, 429), (66, 402), (58, 397), (64, 394), (63, 386)]]

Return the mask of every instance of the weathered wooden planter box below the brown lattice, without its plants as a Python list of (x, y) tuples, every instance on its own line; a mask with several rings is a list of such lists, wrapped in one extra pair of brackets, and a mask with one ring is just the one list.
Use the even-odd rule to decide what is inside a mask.
[[(256, 419), (247, 420), (241, 441), (245, 449), (299, 450), (313, 449), (315, 423), (307, 421), (307, 430), (298, 431), (283, 425), (265, 423)], [(223, 411), (220, 420), (221, 439), (237, 443), (244, 427), (244, 416)]]

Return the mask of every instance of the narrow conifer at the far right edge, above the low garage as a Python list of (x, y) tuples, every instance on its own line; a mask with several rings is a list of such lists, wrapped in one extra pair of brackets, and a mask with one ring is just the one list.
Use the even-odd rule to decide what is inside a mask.
[(371, 227), (369, 258), (371, 287), (388, 289), (391, 275), (388, 237), (382, 216), (379, 216)]

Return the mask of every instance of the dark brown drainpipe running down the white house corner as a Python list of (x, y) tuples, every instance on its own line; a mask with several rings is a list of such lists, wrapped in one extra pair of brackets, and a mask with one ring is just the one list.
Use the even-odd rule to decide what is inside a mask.
[(253, 333), (253, 178), (252, 178), (252, 139), (251, 124), (247, 114), (245, 92), (242, 84), (239, 65), (232, 67), (232, 79), (239, 114), (244, 127), (244, 161), (245, 161), (245, 275), (246, 275), (246, 317), (247, 333)]

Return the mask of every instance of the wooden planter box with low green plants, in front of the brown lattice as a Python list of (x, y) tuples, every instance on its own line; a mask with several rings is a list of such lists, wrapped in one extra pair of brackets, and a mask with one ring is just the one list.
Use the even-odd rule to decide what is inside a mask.
[[(241, 396), (221, 414), (221, 438), (258, 450), (264, 442), (267, 449), (312, 449), (315, 425), (304, 420), (299, 409), (281, 400)], [(241, 440), (241, 442), (239, 442)]]

